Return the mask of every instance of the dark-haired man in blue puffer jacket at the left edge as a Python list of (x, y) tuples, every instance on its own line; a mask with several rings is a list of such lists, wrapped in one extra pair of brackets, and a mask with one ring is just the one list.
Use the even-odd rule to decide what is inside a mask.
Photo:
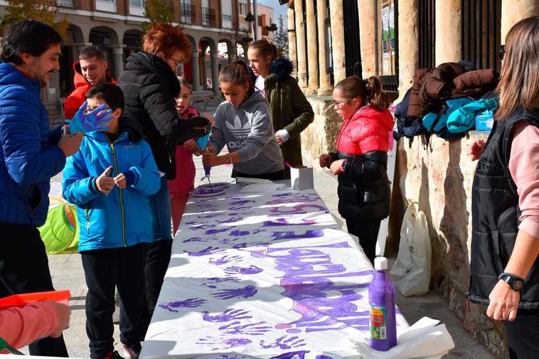
[[(82, 141), (82, 134), (49, 132), (39, 98), (41, 84), (59, 68), (61, 42), (50, 26), (22, 21), (1, 43), (0, 297), (54, 290), (37, 227), (47, 217), (50, 178)], [(68, 356), (62, 337), (31, 344), (30, 354)]]

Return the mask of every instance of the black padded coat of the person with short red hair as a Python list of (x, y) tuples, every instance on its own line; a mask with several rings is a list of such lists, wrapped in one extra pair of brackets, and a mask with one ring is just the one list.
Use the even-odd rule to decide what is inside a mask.
[(119, 75), (118, 85), (124, 92), (124, 116), (142, 124), (159, 171), (167, 178), (176, 177), (175, 151), (178, 141), (205, 134), (208, 120), (193, 117), (183, 120), (176, 112), (176, 97), (180, 93), (178, 78), (169, 65), (158, 56), (139, 52), (127, 58)]

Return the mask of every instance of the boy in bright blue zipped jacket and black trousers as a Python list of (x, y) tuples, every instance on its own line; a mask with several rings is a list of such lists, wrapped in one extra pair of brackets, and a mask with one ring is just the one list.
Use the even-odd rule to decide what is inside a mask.
[(138, 122), (121, 117), (122, 90), (102, 83), (86, 95), (87, 111), (105, 104), (114, 118), (106, 132), (90, 132), (63, 173), (63, 196), (77, 205), (79, 252), (88, 293), (86, 332), (91, 358), (121, 358), (114, 351), (114, 286), (120, 299), (120, 340), (138, 358), (139, 315), (144, 295), (145, 243), (153, 240), (146, 196), (160, 176)]

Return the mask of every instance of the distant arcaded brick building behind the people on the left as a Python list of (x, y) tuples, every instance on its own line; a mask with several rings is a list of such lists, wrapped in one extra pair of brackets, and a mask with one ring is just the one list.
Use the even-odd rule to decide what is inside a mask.
[[(235, 58), (237, 46), (246, 48), (238, 36), (239, 1), (250, 0), (174, 0), (174, 25), (183, 27), (192, 45), (190, 59), (178, 74), (193, 85), (193, 90), (218, 90), (220, 66)], [(56, 0), (60, 15), (70, 23), (62, 46), (60, 72), (54, 73), (43, 92), (43, 102), (51, 114), (61, 111), (61, 99), (74, 89), (73, 62), (82, 48), (97, 45), (105, 52), (110, 72), (118, 77), (125, 60), (142, 49), (141, 24), (144, 0)], [(0, 0), (0, 14), (6, 1)], [(244, 16), (245, 17), (245, 16)], [(219, 49), (222, 49), (221, 51)]]

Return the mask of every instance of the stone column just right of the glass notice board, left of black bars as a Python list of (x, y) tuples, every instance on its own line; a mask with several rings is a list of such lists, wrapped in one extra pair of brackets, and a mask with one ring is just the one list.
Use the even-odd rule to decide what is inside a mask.
[(399, 1), (399, 99), (412, 87), (419, 66), (419, 1)]

